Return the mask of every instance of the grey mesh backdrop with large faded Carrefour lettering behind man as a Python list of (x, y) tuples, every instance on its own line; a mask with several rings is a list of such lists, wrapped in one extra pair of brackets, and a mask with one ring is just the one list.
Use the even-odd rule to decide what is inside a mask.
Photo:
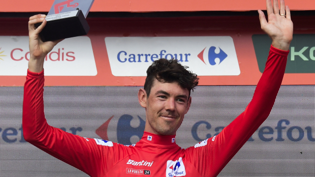
[[(131, 145), (139, 141), (145, 124), (139, 89), (45, 87), (46, 118), (50, 125), (75, 135)], [(198, 86), (192, 93), (191, 110), (177, 131), (178, 145), (187, 148), (217, 135), (244, 111), (254, 91), (250, 85)], [(25, 142), (23, 87), (0, 87), (0, 95), (0, 176), (87, 176)], [(267, 121), (219, 176), (314, 176), (314, 119), (315, 86), (282, 85)]]

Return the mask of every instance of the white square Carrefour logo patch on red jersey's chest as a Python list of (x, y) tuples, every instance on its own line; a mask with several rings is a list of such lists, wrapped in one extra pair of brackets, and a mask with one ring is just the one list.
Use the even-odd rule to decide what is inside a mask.
[(182, 158), (179, 157), (178, 160), (172, 161), (168, 160), (166, 164), (166, 177), (173, 176), (184, 176), (186, 175), (186, 170)]

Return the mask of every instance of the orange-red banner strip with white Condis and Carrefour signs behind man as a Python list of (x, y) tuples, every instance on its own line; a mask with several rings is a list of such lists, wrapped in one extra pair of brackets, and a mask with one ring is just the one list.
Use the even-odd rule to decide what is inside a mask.
[[(294, 35), (282, 84), (315, 84), (312, 39), (314, 34)], [(174, 58), (196, 73), (201, 85), (256, 85), (271, 39), (254, 34), (249, 40), (252, 50), (239, 49), (239, 39), (228, 35), (68, 38), (45, 58), (45, 84), (141, 86), (153, 61)], [(0, 86), (22, 86), (29, 57), (28, 36), (0, 36)]]

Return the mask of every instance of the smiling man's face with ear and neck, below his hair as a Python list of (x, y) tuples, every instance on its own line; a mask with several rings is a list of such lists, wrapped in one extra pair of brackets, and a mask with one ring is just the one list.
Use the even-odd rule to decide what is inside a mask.
[(177, 82), (162, 83), (156, 79), (149, 97), (141, 89), (138, 98), (146, 110), (144, 130), (157, 135), (175, 135), (192, 102), (188, 95), (188, 90)]

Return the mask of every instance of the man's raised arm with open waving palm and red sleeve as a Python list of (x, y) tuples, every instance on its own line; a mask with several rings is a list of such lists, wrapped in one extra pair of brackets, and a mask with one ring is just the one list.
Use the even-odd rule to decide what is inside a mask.
[[(266, 67), (259, 80), (253, 99), (245, 111), (233, 120), (216, 137), (210, 138), (196, 148), (190, 148), (193, 154), (201, 155), (196, 163), (205, 176), (216, 176), (246, 143), (257, 128), (266, 120), (279, 91), (286, 70), (289, 46), (293, 36), (293, 23), (289, 7), (280, 0), (267, 0), (268, 22), (264, 13), (259, 10), (262, 29), (272, 38)], [(286, 16), (283, 14), (286, 13)], [(282, 15), (281, 15), (282, 14)], [(202, 166), (202, 167), (201, 167)]]

